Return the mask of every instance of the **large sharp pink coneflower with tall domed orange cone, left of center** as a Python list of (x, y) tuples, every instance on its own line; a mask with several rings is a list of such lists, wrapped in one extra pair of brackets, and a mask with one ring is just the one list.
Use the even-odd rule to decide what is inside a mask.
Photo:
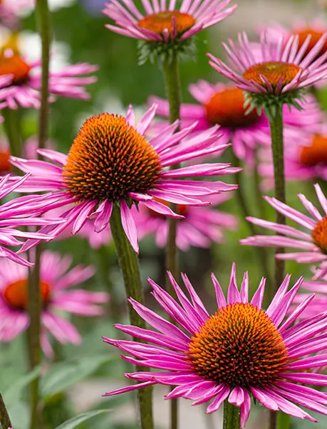
[[(13, 164), (33, 177), (21, 187), (26, 191), (58, 191), (59, 203), (48, 209), (69, 207), (63, 218), (73, 224), (72, 232), (80, 231), (92, 215), (95, 231), (108, 226), (113, 204), (120, 204), (121, 219), (131, 245), (138, 251), (137, 231), (130, 205), (142, 201), (147, 208), (165, 216), (180, 217), (160, 198), (176, 204), (202, 205), (197, 198), (236, 189), (220, 181), (185, 180), (190, 176), (214, 176), (238, 171), (230, 164), (197, 164), (168, 171), (166, 167), (194, 159), (203, 154), (221, 153), (228, 145), (217, 143), (217, 127), (191, 134), (189, 127), (175, 132), (178, 122), (165, 127), (150, 142), (144, 133), (155, 116), (152, 106), (135, 125), (133, 108), (126, 117), (103, 113), (90, 117), (81, 127), (68, 156), (42, 150), (56, 164), (13, 158)], [(65, 226), (63, 226), (65, 228)], [(47, 233), (60, 233), (60, 226), (49, 227)]]

